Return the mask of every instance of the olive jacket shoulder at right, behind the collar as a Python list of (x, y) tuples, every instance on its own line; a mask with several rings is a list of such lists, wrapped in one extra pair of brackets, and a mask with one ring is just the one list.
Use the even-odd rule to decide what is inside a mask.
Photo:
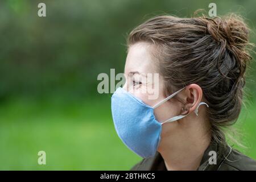
[(220, 170), (256, 171), (256, 161), (232, 149), (230, 155), (224, 157)]

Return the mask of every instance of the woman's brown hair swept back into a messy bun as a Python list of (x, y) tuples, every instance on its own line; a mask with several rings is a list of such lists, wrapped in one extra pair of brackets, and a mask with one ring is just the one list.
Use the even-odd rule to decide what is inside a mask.
[(195, 83), (209, 105), (212, 140), (225, 144), (223, 127), (233, 125), (241, 111), (246, 65), (251, 56), (249, 28), (237, 15), (222, 18), (151, 18), (130, 32), (128, 46), (155, 44), (160, 74), (168, 94)]

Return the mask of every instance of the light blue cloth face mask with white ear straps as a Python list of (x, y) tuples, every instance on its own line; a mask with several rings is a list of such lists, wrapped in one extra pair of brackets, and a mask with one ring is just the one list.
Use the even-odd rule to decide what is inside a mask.
[[(183, 89), (171, 94), (154, 107), (144, 104), (142, 100), (122, 88), (115, 90), (111, 104), (112, 117), (115, 130), (122, 142), (142, 158), (154, 156), (160, 143), (163, 123), (177, 121), (189, 114), (177, 115), (160, 123), (155, 118), (154, 109)], [(207, 105), (200, 102), (195, 110), (196, 115), (201, 104)]]

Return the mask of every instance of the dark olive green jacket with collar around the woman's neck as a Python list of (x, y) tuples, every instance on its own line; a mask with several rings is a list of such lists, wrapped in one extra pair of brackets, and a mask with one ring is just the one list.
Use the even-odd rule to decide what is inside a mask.
[[(216, 153), (216, 160), (214, 162), (212, 152)], [(210, 152), (210, 153), (209, 153)], [(166, 166), (164, 160), (159, 152), (152, 158), (143, 159), (141, 162), (136, 164), (133, 168), (133, 171), (166, 171)], [(217, 144), (210, 143), (207, 150), (205, 150), (203, 158), (198, 171), (213, 171), (213, 170), (222, 170), (222, 171), (244, 171), (244, 170), (253, 170), (256, 171), (256, 161), (241, 154), (237, 150), (234, 150), (230, 146), (220, 147)]]

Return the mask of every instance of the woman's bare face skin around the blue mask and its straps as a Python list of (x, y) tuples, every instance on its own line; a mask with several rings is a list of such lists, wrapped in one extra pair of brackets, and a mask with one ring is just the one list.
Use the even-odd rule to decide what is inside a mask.
[[(139, 42), (130, 46), (125, 64), (126, 83), (123, 86), (124, 89), (149, 106), (154, 106), (166, 98), (164, 79), (158, 72), (159, 61), (152, 56), (152, 51), (154, 51), (154, 45), (146, 42)], [(159, 79), (154, 79), (155, 73), (159, 73), (156, 75), (159, 76)], [(153, 79), (148, 78), (150, 74), (152, 74)], [(151, 92), (147, 92), (147, 90), (151, 90)], [(154, 99), (150, 97), (152, 92), (157, 95)], [(157, 107), (154, 114), (159, 122), (164, 122), (181, 114), (181, 107), (181, 102), (171, 98)]]

